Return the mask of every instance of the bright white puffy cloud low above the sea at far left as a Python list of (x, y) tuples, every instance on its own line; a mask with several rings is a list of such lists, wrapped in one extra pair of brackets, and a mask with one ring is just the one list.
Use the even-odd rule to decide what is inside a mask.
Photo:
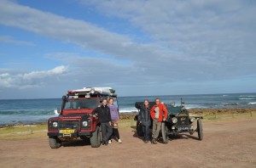
[[(52, 70), (31, 71), (26, 73), (15, 72), (14, 70), (0, 70), (0, 88), (32, 88), (49, 85), (65, 74), (67, 66), (57, 66)], [(5, 71), (2, 72), (1, 71)], [(8, 72), (9, 71), (9, 72)]]

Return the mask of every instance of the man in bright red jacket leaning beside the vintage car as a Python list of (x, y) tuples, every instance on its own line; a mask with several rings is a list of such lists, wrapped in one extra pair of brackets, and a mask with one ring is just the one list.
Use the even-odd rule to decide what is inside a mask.
[(165, 104), (160, 103), (160, 98), (155, 98), (155, 105), (150, 110), (150, 115), (153, 120), (152, 143), (156, 144), (156, 138), (159, 136), (162, 121), (166, 121), (168, 111)]

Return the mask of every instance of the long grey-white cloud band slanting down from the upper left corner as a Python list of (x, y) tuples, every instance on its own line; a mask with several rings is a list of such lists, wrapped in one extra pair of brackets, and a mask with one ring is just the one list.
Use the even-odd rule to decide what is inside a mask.
[(17, 3), (3, 1), (0, 9), (0, 24), (2, 25), (15, 26), (42, 36), (72, 42), (82, 48), (99, 50), (101, 53), (116, 56), (122, 55), (126, 49), (142, 51), (141, 48), (150, 48), (150, 46), (137, 46), (128, 36), (105, 31), (88, 22), (68, 19)]

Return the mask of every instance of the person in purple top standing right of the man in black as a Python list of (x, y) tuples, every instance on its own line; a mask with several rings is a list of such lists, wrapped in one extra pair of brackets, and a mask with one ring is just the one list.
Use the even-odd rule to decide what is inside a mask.
[[(118, 139), (119, 143), (122, 143), (119, 136), (119, 111), (115, 105), (113, 105), (113, 98), (109, 98), (108, 100), (108, 108), (110, 109), (110, 115), (113, 126), (113, 135)], [(111, 137), (109, 138), (108, 143), (111, 143)]]

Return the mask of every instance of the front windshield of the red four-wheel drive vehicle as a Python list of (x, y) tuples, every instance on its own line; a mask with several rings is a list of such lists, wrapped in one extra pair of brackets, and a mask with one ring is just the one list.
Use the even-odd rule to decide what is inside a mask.
[(96, 107), (96, 98), (68, 99), (65, 104), (65, 109), (95, 109)]

